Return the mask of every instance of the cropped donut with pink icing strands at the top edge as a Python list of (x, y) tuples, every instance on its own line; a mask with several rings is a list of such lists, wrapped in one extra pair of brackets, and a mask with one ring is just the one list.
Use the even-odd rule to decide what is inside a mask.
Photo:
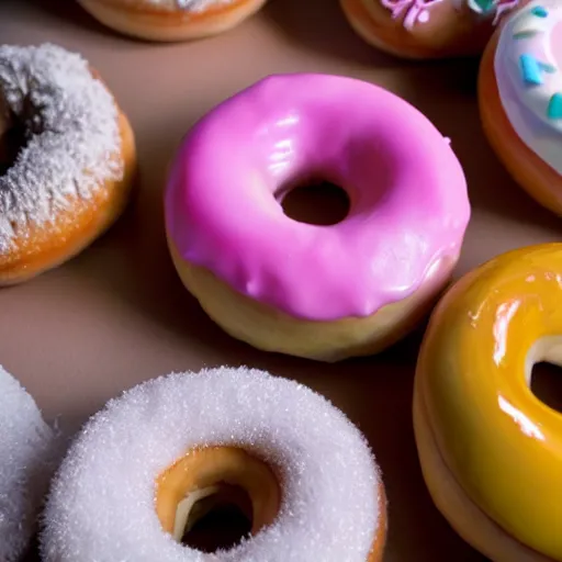
[(340, 0), (367, 43), (404, 58), (481, 54), (519, 0)]

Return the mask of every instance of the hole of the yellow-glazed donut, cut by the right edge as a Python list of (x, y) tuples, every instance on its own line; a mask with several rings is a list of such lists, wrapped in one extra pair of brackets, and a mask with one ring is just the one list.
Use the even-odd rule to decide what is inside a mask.
[(529, 352), (527, 383), (533, 395), (562, 413), (562, 338), (540, 340)]

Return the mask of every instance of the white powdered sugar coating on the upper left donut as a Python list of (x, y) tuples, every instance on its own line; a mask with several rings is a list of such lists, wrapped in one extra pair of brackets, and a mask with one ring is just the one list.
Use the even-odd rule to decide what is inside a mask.
[(56, 45), (0, 46), (0, 90), (26, 145), (0, 177), (0, 255), (30, 224), (123, 178), (119, 110), (88, 61)]

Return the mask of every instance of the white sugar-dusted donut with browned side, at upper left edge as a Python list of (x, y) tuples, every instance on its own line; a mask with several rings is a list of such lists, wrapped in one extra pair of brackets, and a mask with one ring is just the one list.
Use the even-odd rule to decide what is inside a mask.
[[(0, 92), (5, 285), (60, 265), (116, 220), (128, 200), (135, 148), (125, 115), (77, 54), (48, 44), (0, 46)], [(8, 149), (14, 138), (22, 146)], [(15, 159), (7, 162), (9, 154)]]

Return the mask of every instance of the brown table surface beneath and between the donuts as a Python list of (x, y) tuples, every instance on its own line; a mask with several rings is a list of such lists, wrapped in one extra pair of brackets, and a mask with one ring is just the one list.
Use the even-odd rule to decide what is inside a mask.
[(504, 250), (560, 239), (557, 218), (510, 180), (486, 144), (477, 64), (384, 56), (350, 31), (337, 0), (272, 0), (229, 33), (175, 45), (113, 34), (69, 0), (2, 0), (0, 42), (81, 52), (131, 117), (138, 144), (139, 194), (117, 225), (64, 267), (0, 292), (0, 362), (46, 418), (71, 435), (108, 398), (149, 378), (204, 366), (263, 368), (325, 394), (369, 438), (390, 501), (385, 561), (483, 560), (439, 515), (422, 479), (411, 418), (419, 334), (379, 357), (334, 366), (235, 341), (179, 282), (161, 206), (170, 155), (204, 112), (269, 74), (331, 72), (384, 86), (452, 138), (473, 205), (458, 274)]

